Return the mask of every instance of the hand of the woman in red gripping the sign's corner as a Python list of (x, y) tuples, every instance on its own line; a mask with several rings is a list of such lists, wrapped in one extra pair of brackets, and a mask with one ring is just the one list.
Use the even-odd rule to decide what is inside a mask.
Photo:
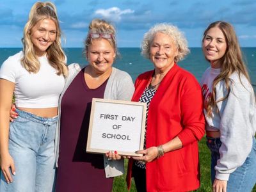
[(136, 151), (136, 154), (143, 154), (141, 157), (132, 157), (132, 159), (135, 159), (137, 161), (143, 161), (144, 163), (148, 163), (151, 161), (154, 161), (157, 157), (157, 147), (150, 147), (145, 150), (138, 150)]

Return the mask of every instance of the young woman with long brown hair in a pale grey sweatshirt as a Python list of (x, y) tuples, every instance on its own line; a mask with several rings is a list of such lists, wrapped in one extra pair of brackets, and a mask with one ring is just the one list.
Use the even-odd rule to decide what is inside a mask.
[(202, 40), (211, 63), (202, 77), (213, 191), (252, 191), (256, 182), (256, 105), (234, 28), (213, 22)]

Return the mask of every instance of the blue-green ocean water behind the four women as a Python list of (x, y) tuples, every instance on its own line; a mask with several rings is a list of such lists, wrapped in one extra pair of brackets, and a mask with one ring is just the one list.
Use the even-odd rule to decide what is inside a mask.
[[(0, 66), (8, 56), (12, 56), (20, 50), (21, 48), (0, 48)], [(64, 50), (67, 54), (68, 64), (80, 63), (86, 65), (87, 61), (83, 56), (83, 48), (65, 48)], [(128, 72), (133, 81), (142, 72), (154, 68), (149, 60), (141, 56), (140, 48), (119, 48), (118, 51), (120, 52), (120, 58), (115, 61), (113, 66)], [(194, 74), (196, 79), (200, 81), (205, 69), (209, 67), (209, 63), (205, 60), (201, 48), (190, 48), (190, 51), (190, 54), (178, 65)], [(243, 47), (242, 51), (254, 85), (253, 88), (256, 90), (256, 47)]]

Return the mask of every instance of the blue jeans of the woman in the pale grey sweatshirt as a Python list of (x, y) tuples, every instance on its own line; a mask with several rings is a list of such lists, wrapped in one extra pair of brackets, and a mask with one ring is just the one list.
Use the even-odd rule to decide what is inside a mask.
[[(207, 146), (211, 150), (211, 180), (215, 179), (215, 169), (217, 160), (220, 159), (219, 149), (221, 147), (220, 138), (207, 137)], [(252, 191), (256, 183), (256, 142), (253, 138), (252, 150), (242, 166), (231, 173), (227, 182), (227, 191)]]

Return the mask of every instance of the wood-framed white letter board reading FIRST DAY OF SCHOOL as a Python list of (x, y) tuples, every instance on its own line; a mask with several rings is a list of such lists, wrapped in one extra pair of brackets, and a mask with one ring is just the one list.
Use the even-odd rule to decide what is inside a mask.
[(141, 156), (135, 151), (143, 149), (146, 108), (143, 102), (93, 98), (86, 151)]

